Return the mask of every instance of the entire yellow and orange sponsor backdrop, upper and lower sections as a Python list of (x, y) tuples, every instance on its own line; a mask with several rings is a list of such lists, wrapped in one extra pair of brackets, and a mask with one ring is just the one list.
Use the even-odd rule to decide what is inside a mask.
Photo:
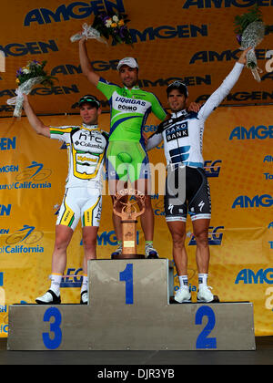
[[(66, 150), (55, 140), (35, 135), (24, 117), (10, 119), (15, 96), (15, 72), (29, 60), (46, 60), (48, 74), (56, 76), (52, 89), (36, 86), (33, 105), (47, 125), (78, 122), (77, 99), (94, 93), (106, 113), (100, 124), (108, 130), (106, 98), (90, 87), (81, 74), (77, 43), (70, 36), (92, 24), (105, 9), (125, 12), (134, 47), (106, 47), (88, 40), (87, 49), (97, 74), (118, 82), (116, 63), (133, 56), (139, 64), (140, 85), (167, 107), (166, 87), (174, 79), (187, 83), (190, 99), (203, 101), (214, 91), (239, 57), (234, 18), (258, 4), (264, 22), (272, 23), (269, 0), (14, 0), (1, 7), (1, 46), (5, 72), (0, 73), (0, 336), (6, 336), (8, 305), (34, 302), (45, 292), (55, 239), (56, 211), (62, 202), (67, 171)], [(257, 47), (261, 82), (244, 69), (236, 86), (207, 120), (204, 158), (212, 194), (209, 233), (209, 283), (222, 301), (254, 302), (257, 335), (273, 335), (273, 151), (272, 35)], [(269, 53), (269, 55), (268, 55)], [(1, 67), (3, 67), (1, 56)], [(267, 66), (268, 65), (268, 66)], [(239, 105), (239, 107), (234, 107)], [(252, 105), (252, 107), (249, 107)], [(147, 134), (157, 120), (147, 121)], [(149, 154), (164, 162), (163, 150)], [(160, 182), (163, 182), (162, 180)], [(163, 215), (163, 197), (153, 195), (155, 245), (171, 259), (170, 235)], [(111, 224), (111, 202), (104, 197), (97, 238), (99, 258), (109, 258), (116, 246)], [(187, 228), (190, 284), (197, 288), (195, 241)], [(138, 227), (140, 251), (143, 235)], [(77, 228), (68, 251), (66, 274), (80, 273), (83, 256)], [(177, 278), (176, 278), (177, 283)], [(62, 299), (77, 302), (80, 277), (67, 277)]]

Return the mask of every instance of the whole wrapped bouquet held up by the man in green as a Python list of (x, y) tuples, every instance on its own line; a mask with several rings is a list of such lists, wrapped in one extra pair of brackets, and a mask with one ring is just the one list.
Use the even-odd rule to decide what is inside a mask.
[(96, 38), (96, 40), (106, 43), (110, 37), (112, 38), (112, 45), (116, 44), (130, 44), (132, 37), (127, 29), (126, 23), (129, 21), (124, 14), (115, 14), (108, 16), (106, 13), (95, 16), (92, 26), (83, 25), (83, 32), (70, 37), (74, 43), (80, 40), (83, 36), (86, 38)]

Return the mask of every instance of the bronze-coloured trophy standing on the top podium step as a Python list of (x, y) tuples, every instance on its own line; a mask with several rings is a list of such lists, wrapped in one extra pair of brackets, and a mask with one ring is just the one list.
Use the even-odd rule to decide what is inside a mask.
[[(136, 197), (136, 201), (122, 202), (124, 197)], [(136, 203), (140, 202), (139, 211), (136, 210)], [(116, 210), (117, 203), (123, 205), (121, 212)], [(124, 189), (116, 192), (116, 198), (113, 204), (114, 213), (121, 218), (122, 226), (122, 253), (113, 255), (113, 259), (141, 259), (145, 258), (143, 254), (136, 254), (136, 223), (137, 218), (145, 212), (145, 195), (135, 189)]]

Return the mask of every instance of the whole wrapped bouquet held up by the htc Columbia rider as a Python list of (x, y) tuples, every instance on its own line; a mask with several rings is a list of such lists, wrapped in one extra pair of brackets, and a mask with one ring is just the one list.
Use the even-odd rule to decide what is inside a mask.
[(9, 98), (6, 103), (15, 105), (14, 116), (21, 117), (23, 94), (28, 95), (37, 84), (42, 84), (45, 87), (52, 88), (54, 85), (54, 77), (48, 76), (44, 70), (46, 61), (39, 63), (38, 61), (29, 61), (25, 67), (20, 67), (16, 72), (16, 83), (18, 88), (15, 90), (17, 95), (14, 98)]

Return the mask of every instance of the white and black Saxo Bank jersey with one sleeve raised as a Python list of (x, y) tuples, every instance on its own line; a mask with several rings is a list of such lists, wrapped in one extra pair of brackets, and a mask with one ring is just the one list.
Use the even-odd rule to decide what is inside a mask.
[(171, 119), (161, 122), (157, 131), (148, 139), (147, 150), (155, 148), (164, 140), (167, 164), (184, 163), (193, 168), (203, 168), (204, 123), (210, 113), (234, 87), (243, 67), (243, 64), (237, 62), (220, 87), (207, 99), (197, 113), (187, 112), (184, 109), (172, 113)]

